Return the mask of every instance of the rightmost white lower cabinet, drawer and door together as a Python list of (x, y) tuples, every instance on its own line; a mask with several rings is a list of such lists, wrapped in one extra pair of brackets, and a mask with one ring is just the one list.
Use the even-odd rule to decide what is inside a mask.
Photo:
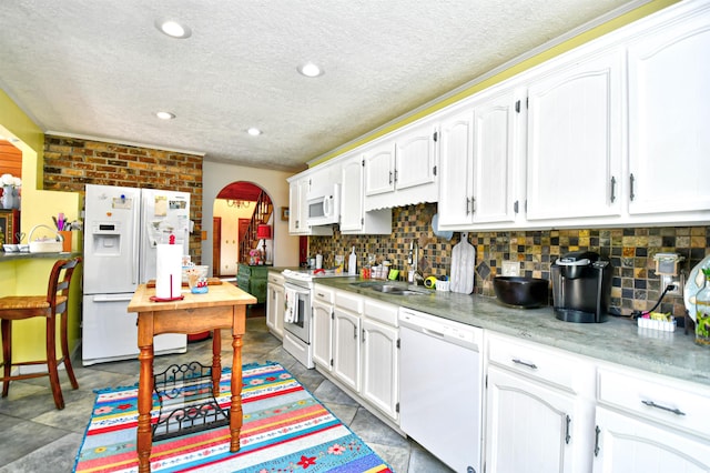
[(710, 389), (600, 366), (595, 473), (709, 472)]

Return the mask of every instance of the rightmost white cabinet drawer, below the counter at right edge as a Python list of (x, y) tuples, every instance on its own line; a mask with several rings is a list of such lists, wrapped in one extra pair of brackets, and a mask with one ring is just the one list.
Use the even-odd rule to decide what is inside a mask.
[(710, 389), (632, 370), (599, 368), (597, 400), (643, 419), (710, 439)]

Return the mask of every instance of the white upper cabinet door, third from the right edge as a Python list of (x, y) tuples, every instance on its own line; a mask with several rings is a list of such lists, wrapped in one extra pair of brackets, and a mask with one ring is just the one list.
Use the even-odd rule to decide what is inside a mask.
[(525, 179), (524, 160), (516, 163), (521, 111), (513, 91), (474, 104), (474, 223), (515, 221), (516, 178)]

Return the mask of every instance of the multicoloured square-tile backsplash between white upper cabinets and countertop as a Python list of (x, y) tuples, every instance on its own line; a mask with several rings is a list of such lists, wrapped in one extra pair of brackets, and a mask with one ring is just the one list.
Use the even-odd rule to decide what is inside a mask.
[[(432, 228), (435, 213), (436, 204), (396, 208), (392, 234), (344, 235), (336, 228), (333, 236), (311, 236), (310, 252), (323, 254), (324, 265), (332, 266), (336, 254), (347, 255), (351, 246), (355, 246), (358, 265), (366, 261), (366, 255), (375, 255), (377, 261), (389, 260), (393, 268), (406, 274), (409, 243), (417, 241), (419, 269), (425, 275), (440, 278), (450, 270), (452, 249), (462, 233), (454, 232), (450, 240), (435, 235)], [(679, 253), (684, 258), (679, 266), (687, 275), (710, 254), (710, 227), (469, 232), (468, 241), (476, 246), (474, 292), (490, 296), (493, 278), (503, 273), (504, 261), (517, 261), (520, 275), (549, 279), (550, 264), (561, 254), (596, 251), (613, 265), (611, 311), (628, 315), (632, 310), (651, 309), (661, 295), (653, 255)], [(686, 313), (683, 299), (671, 295), (666, 295), (657, 310), (677, 316)]]

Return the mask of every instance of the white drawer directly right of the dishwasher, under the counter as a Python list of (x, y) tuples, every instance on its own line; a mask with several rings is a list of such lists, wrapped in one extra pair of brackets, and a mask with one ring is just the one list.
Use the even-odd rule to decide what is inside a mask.
[(561, 350), (490, 335), (488, 361), (572, 393), (594, 395), (594, 365)]

